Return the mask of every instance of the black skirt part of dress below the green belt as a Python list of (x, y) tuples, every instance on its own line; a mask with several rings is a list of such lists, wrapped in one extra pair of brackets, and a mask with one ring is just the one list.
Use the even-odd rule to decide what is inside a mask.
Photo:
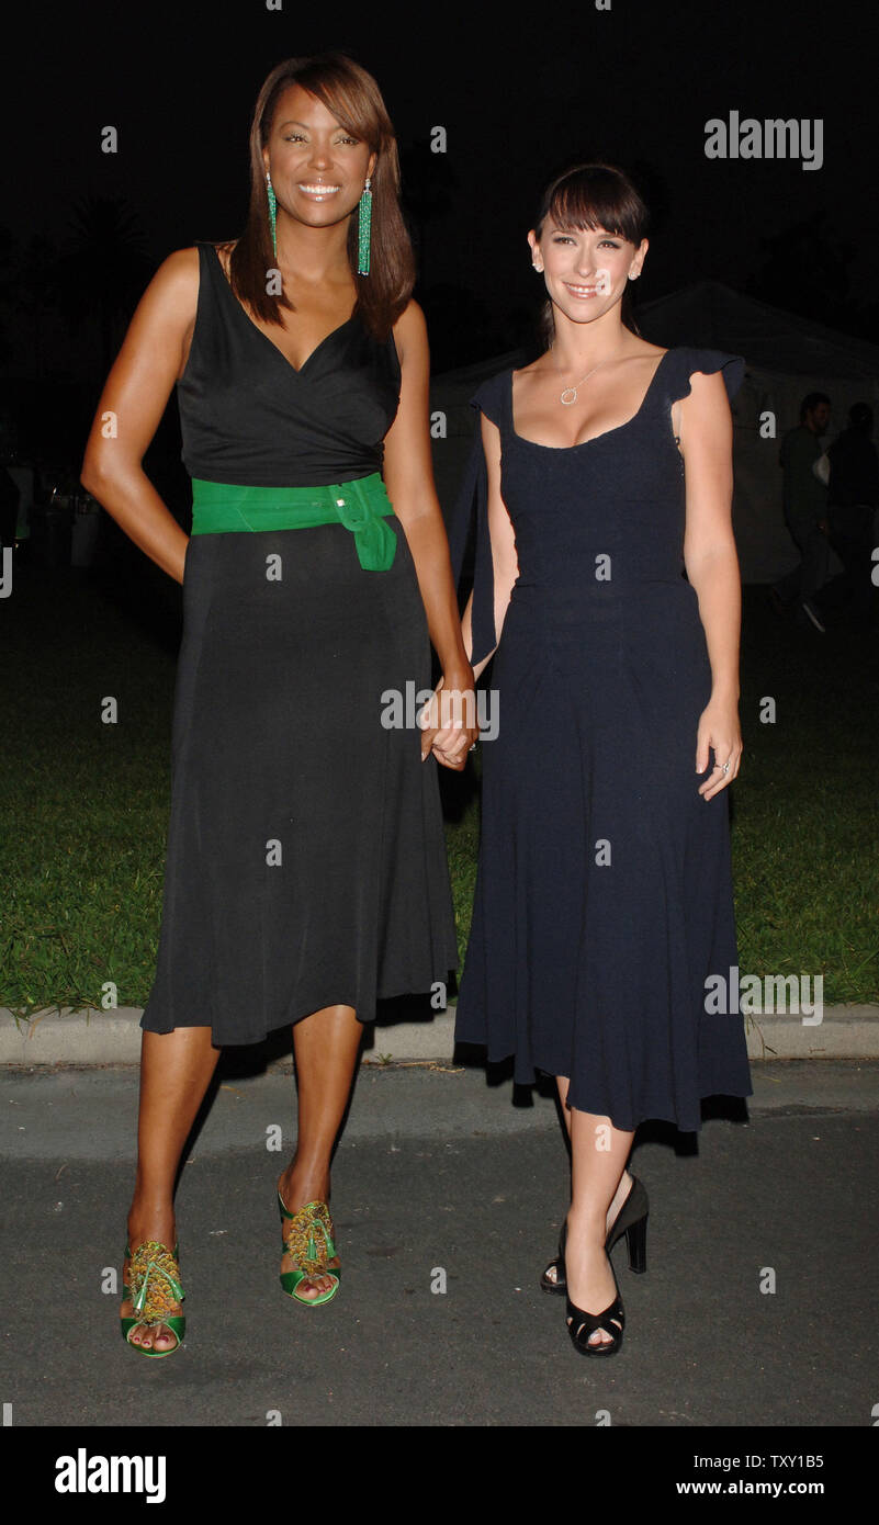
[(342, 525), (189, 540), (146, 1031), (256, 1043), (337, 1003), (369, 1022), (458, 967), (436, 761), (388, 723), (389, 695), (430, 688), (389, 525), (385, 572)]

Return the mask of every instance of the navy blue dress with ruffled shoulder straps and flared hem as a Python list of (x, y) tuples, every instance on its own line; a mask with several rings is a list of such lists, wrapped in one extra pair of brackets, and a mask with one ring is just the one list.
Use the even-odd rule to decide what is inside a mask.
[[(501, 432), (519, 576), (488, 669), (499, 730), (482, 743), (456, 1039), (514, 1055), (522, 1083), (571, 1077), (571, 1106), (624, 1130), (697, 1130), (702, 1096), (751, 1095), (729, 801), (705, 802), (694, 770), (711, 669), (671, 404), (696, 371), (722, 371), (732, 396), (745, 363), (665, 351), (638, 413), (569, 450), (516, 433), (510, 371), (473, 398)], [(478, 436), (450, 526), (461, 566), (476, 512), (475, 662), (494, 647), (485, 500)]]

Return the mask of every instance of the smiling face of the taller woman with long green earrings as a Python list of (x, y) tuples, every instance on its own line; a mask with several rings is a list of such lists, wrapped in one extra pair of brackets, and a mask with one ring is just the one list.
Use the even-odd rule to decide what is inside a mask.
[(278, 98), (262, 163), (279, 212), (310, 227), (330, 227), (357, 206), (375, 154), (317, 96), (295, 84)]

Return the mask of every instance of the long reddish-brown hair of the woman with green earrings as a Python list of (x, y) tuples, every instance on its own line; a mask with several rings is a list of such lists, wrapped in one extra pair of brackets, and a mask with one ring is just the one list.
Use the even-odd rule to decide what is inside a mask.
[(229, 258), (229, 281), (235, 296), (266, 323), (282, 323), (281, 308), (293, 311), (282, 293), (269, 296), (266, 271), (275, 267), (266, 166), (262, 148), (269, 140), (278, 99), (298, 84), (316, 96), (353, 137), (377, 154), (372, 172), (372, 227), (369, 274), (357, 274), (357, 217), (348, 223), (348, 261), (357, 282), (356, 313), (374, 339), (388, 339), (415, 285), (412, 242), (400, 210), (400, 159), (391, 117), (371, 73), (345, 53), (319, 53), (288, 58), (264, 81), (250, 125), (250, 207), (247, 224)]

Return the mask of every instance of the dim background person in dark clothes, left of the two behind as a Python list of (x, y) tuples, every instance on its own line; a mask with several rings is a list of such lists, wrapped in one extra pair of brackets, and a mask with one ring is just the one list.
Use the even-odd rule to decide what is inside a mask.
[(830, 546), (827, 540), (827, 486), (812, 470), (821, 456), (821, 435), (830, 424), (830, 398), (809, 392), (800, 404), (800, 424), (783, 441), (778, 459), (784, 473), (784, 523), (800, 552), (800, 566), (772, 584), (775, 608), (792, 605), (800, 624), (809, 621), (824, 634), (815, 595), (827, 581)]

